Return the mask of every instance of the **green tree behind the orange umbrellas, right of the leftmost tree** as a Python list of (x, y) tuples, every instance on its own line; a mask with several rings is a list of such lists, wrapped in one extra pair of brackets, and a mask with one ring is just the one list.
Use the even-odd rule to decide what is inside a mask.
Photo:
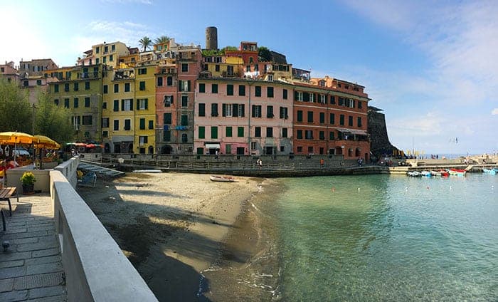
[(70, 142), (74, 138), (71, 113), (67, 108), (53, 103), (47, 93), (38, 93), (35, 132), (57, 142)]

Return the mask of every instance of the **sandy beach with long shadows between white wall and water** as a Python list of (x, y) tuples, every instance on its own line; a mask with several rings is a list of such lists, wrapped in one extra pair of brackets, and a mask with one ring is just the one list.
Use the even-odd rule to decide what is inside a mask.
[[(219, 259), (222, 246), (226, 257), (228, 234), (242, 234), (233, 246), (238, 262), (258, 249), (259, 231), (247, 227), (244, 209), (261, 191), (263, 179), (237, 179), (228, 183), (211, 182), (208, 175), (128, 173), (99, 178), (97, 187), (78, 187), (78, 192), (159, 301), (209, 301), (209, 280), (200, 273)], [(245, 223), (235, 223), (238, 217)], [(234, 232), (243, 225), (244, 230)]]

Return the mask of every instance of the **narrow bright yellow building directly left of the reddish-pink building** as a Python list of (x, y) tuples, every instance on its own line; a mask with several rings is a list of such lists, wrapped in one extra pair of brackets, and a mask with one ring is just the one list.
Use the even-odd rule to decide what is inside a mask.
[(156, 71), (155, 64), (139, 64), (135, 70), (134, 150), (136, 153), (154, 153), (156, 136)]

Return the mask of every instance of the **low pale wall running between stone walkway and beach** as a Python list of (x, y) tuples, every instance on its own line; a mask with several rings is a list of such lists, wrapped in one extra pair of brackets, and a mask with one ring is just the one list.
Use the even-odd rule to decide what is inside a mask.
[(75, 191), (77, 167), (78, 158), (73, 157), (50, 172), (55, 231), (68, 301), (157, 301), (120, 246)]

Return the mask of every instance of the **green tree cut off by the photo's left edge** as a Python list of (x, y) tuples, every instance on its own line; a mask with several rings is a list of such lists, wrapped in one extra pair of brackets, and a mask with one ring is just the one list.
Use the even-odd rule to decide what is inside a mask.
[(0, 132), (33, 131), (33, 110), (27, 92), (0, 76)]

